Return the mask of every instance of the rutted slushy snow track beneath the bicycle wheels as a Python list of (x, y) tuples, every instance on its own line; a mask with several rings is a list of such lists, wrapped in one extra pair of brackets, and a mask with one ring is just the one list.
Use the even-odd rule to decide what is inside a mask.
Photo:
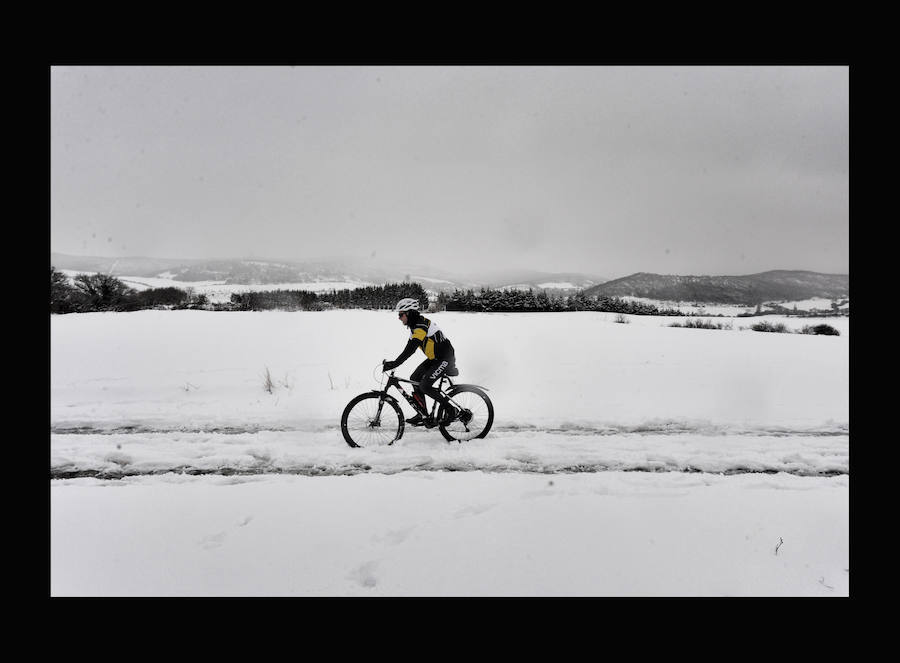
[(396, 474), (405, 471), (850, 473), (843, 426), (722, 429), (676, 422), (629, 429), (497, 427), (483, 440), (447, 443), (407, 428), (392, 446), (351, 449), (334, 426), (294, 430), (141, 430), (57, 427), (53, 479), (183, 474)]

